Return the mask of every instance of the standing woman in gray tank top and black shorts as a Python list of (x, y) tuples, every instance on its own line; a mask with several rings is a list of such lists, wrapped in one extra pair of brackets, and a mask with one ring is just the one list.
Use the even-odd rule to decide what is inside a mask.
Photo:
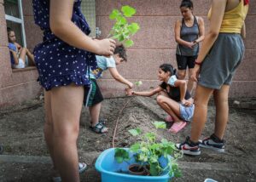
[[(182, 20), (175, 24), (175, 40), (177, 42), (176, 59), (178, 78), (186, 77), (186, 70), (189, 67), (189, 77), (195, 66), (195, 59), (199, 52), (199, 44), (205, 35), (204, 20), (193, 14), (193, 3), (190, 0), (183, 0), (180, 5), (183, 15)], [(191, 94), (194, 82), (189, 80), (188, 91)]]

